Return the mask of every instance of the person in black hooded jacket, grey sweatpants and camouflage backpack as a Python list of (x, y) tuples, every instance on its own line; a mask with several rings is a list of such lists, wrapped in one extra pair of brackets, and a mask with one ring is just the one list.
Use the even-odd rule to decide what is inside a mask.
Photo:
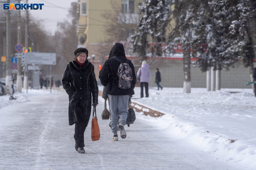
[(100, 70), (99, 79), (101, 84), (106, 86), (110, 102), (111, 129), (114, 133), (112, 141), (118, 141), (118, 130), (121, 138), (124, 139), (126, 138), (124, 125), (128, 114), (128, 103), (130, 95), (134, 94), (136, 74), (133, 63), (125, 56), (122, 43), (115, 43), (111, 49), (108, 60)]

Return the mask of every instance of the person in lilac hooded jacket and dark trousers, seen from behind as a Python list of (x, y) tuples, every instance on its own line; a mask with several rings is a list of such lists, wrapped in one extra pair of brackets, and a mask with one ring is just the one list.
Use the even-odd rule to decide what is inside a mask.
[(144, 94), (143, 94), (144, 86), (145, 86), (146, 97), (148, 97), (148, 79), (150, 76), (151, 76), (151, 73), (149, 70), (149, 65), (144, 60), (142, 61), (142, 65), (137, 72), (137, 77), (139, 77), (139, 82), (140, 82), (140, 97), (144, 97)]

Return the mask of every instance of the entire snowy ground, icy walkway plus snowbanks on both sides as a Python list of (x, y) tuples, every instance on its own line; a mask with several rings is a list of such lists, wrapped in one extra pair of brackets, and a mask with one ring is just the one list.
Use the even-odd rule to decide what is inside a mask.
[(126, 139), (119, 136), (119, 141), (111, 141), (110, 120), (101, 119), (104, 99), (99, 97), (101, 138), (91, 140), (90, 121), (85, 154), (75, 150), (68, 95), (62, 88), (53, 93), (23, 91), (14, 94), (18, 99), (13, 101), (1, 96), (0, 169), (256, 169), (252, 90), (182, 90), (150, 88), (149, 97), (140, 99), (135, 88), (133, 102), (165, 115), (153, 118), (136, 112), (134, 124), (125, 126)]

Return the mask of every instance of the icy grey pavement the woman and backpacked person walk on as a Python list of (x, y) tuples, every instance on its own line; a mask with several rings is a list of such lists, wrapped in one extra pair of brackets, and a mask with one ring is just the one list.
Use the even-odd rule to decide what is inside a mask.
[[(74, 126), (68, 125), (68, 96), (28, 97), (29, 102), (0, 109), (0, 169), (173, 169), (236, 170), (231, 162), (214, 159), (189, 141), (167, 137), (137, 114), (127, 137), (111, 141), (109, 120), (101, 120), (104, 100), (97, 106), (101, 139), (93, 142), (90, 123), (85, 131), (86, 154), (74, 148)], [(163, 127), (164, 128), (164, 127)]]

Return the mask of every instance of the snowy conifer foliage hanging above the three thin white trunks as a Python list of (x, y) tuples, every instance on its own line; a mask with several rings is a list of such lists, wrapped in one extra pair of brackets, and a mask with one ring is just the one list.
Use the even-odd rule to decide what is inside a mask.
[(192, 42), (195, 63), (202, 71), (214, 67), (221, 70), (232, 66), (236, 60), (224, 51), (231, 45), (227, 35), (234, 13), (229, 0), (201, 1), (194, 14), (195, 39)]

